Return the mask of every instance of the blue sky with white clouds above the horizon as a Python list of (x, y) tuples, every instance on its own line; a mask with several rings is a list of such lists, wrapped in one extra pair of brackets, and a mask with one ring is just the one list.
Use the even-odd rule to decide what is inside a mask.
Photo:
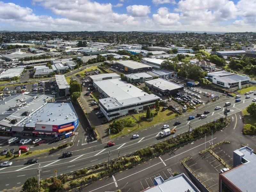
[(0, 30), (256, 32), (256, 0), (0, 0)]

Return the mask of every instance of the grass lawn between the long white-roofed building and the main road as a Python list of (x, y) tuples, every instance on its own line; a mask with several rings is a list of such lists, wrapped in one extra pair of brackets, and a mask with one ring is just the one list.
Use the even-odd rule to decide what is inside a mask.
[[(157, 124), (157, 123), (161, 123), (163, 121), (167, 121), (167, 120), (170, 120), (170, 119), (173, 119), (177, 116), (179, 116), (177, 113), (173, 113), (171, 110), (169, 109), (166, 109), (165, 111), (162, 111), (162, 108), (163, 107), (160, 107), (160, 111), (158, 111), (158, 115), (156, 115), (153, 119), (153, 121), (151, 122), (146, 122), (146, 121), (143, 121), (143, 120), (140, 120), (139, 123), (139, 127), (138, 127), (138, 123), (134, 126), (134, 127), (124, 127), (124, 131), (123, 133), (122, 132), (119, 132), (115, 135), (110, 135), (109, 137), (112, 139), (114, 137), (117, 137), (117, 136), (122, 136), (122, 135), (126, 135), (130, 132), (133, 132), (133, 131), (138, 131), (140, 129), (144, 129), (146, 127), (150, 127), (154, 124)], [(151, 112), (153, 112), (153, 114), (156, 113), (156, 110), (153, 109), (151, 110)], [(137, 121), (139, 120), (139, 116), (142, 116), (142, 115), (146, 115), (146, 111), (145, 113), (138, 113), (138, 114), (134, 114), (133, 116), (137, 119)]]

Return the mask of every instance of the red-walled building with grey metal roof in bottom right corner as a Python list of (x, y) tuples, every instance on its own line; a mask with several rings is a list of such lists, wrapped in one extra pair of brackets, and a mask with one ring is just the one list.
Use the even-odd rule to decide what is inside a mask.
[(256, 155), (245, 146), (233, 152), (233, 168), (219, 174), (219, 191), (249, 192), (256, 188)]

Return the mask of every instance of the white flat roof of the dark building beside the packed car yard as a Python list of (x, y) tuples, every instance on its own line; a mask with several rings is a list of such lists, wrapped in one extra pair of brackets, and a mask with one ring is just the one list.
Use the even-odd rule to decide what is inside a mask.
[(158, 79), (152, 79), (149, 81), (145, 81), (146, 83), (153, 85), (161, 90), (173, 90), (173, 89), (178, 89), (181, 88), (182, 86), (176, 83), (172, 83), (170, 81), (167, 81), (165, 79), (162, 78), (158, 78)]

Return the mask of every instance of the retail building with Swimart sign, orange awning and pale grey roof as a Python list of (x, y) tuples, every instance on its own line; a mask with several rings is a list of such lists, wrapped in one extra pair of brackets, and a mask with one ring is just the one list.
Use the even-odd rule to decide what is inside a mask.
[(46, 102), (18, 124), (12, 125), (12, 132), (60, 137), (74, 132), (77, 126), (78, 117), (71, 102)]

